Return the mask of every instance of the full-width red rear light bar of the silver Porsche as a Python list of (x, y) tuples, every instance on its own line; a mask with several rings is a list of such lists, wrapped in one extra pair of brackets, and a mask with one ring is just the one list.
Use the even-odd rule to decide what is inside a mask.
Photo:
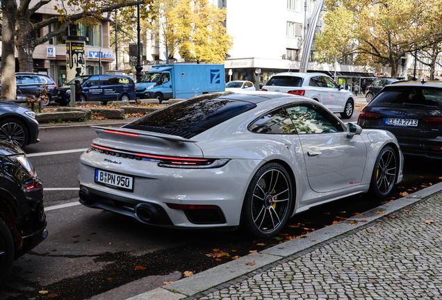
[(132, 158), (136, 160), (150, 160), (158, 162), (158, 167), (173, 167), (183, 169), (208, 169), (222, 167), (229, 163), (228, 159), (215, 159), (215, 158), (183, 158), (174, 156), (158, 156), (155, 154), (137, 153), (129, 151), (121, 151), (117, 149), (111, 149), (108, 147), (102, 147), (97, 144), (90, 144), (92, 149), (101, 153), (122, 157)]

